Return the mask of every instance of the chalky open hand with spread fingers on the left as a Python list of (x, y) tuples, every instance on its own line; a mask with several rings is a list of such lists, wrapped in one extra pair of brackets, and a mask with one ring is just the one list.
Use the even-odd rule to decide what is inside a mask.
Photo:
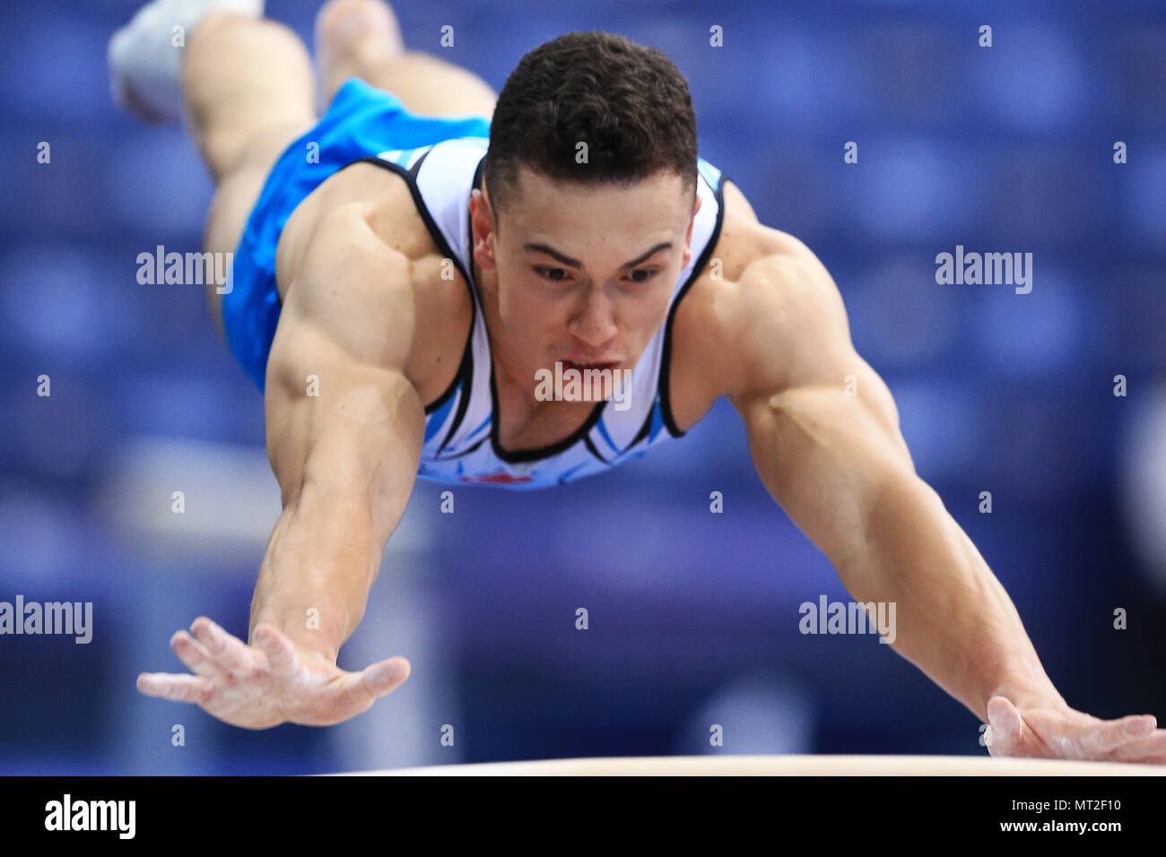
[(409, 676), (403, 658), (347, 673), (268, 623), (255, 626), (253, 639), (248, 646), (201, 616), (189, 634), (178, 631), (170, 638), (170, 648), (196, 675), (142, 673), (138, 689), (147, 696), (197, 703), (206, 714), (244, 729), (281, 723), (330, 726), (366, 711)]

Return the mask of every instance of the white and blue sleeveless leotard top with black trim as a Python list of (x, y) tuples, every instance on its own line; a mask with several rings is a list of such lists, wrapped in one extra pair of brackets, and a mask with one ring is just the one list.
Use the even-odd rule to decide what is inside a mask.
[(498, 398), (493, 360), (473, 281), (470, 192), (480, 188), (489, 140), (458, 138), (416, 149), (382, 152), (367, 162), (387, 167), (409, 184), (417, 211), (442, 253), (454, 260), (470, 288), (473, 321), (457, 377), (426, 406), (426, 436), (417, 476), (452, 484), (541, 489), (574, 482), (642, 456), (651, 447), (683, 436), (668, 401), (668, 361), (676, 307), (703, 271), (724, 216), (721, 170), (698, 161), (701, 209), (693, 224), (691, 260), (673, 287), (667, 321), (648, 343), (621, 396), (596, 402), (583, 426), (557, 443), (534, 450), (504, 450), (494, 413)]

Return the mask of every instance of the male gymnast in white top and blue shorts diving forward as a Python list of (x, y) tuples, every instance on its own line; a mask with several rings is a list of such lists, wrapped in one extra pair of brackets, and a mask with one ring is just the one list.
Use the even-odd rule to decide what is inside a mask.
[[(600, 473), (723, 395), (766, 489), (856, 600), (897, 604), (894, 649), (989, 724), (990, 753), (1166, 763), (1153, 716), (1103, 721), (1053, 687), (915, 473), (830, 275), (698, 157), (663, 54), (570, 33), (496, 96), (405, 50), (381, 0), (330, 0), (316, 40), (322, 117), (262, 0), (155, 0), (110, 43), (119, 100), (181, 118), (215, 178), (205, 250), (234, 258), (211, 315), (264, 391), (283, 506), (248, 641), (198, 617), (171, 640), (191, 674), (143, 673), (142, 693), (248, 729), (365, 711), (409, 665), (337, 654), (416, 477)], [(556, 364), (586, 373), (576, 394), (539, 395)]]

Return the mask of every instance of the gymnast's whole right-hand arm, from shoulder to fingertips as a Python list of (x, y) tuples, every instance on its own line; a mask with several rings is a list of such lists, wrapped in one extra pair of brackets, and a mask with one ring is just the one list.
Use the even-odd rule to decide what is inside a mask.
[(733, 288), (729, 398), (757, 471), (856, 600), (897, 605), (893, 648), (990, 723), (993, 754), (1166, 761), (1153, 717), (1103, 722), (1053, 687), (1004, 588), (915, 473), (813, 253), (759, 259)]

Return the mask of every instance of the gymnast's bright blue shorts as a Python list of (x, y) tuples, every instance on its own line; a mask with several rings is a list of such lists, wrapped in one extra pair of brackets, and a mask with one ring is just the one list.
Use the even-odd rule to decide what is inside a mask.
[(351, 77), (315, 127), (283, 150), (247, 217), (220, 298), (231, 353), (260, 389), (280, 319), (275, 246), (295, 208), (325, 178), (361, 159), (461, 136), (489, 138), (490, 120), (409, 113), (395, 96)]

